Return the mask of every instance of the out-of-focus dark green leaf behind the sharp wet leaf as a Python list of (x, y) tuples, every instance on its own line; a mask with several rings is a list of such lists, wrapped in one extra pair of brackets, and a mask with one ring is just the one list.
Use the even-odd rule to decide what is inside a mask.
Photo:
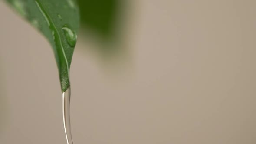
[(102, 38), (113, 35), (120, 0), (78, 0), (81, 22)]

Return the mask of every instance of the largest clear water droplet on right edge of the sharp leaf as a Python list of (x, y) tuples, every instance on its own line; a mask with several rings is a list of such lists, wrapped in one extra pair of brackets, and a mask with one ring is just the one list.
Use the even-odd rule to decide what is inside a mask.
[(77, 39), (76, 33), (74, 31), (72, 31), (67, 25), (62, 27), (62, 30), (65, 33), (66, 40), (67, 40), (69, 46), (75, 47), (76, 39)]

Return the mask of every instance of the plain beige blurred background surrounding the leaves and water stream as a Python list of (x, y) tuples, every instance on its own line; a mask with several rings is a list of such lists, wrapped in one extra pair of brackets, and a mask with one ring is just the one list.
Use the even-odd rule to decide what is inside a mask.
[[(129, 3), (127, 66), (79, 36), (74, 144), (256, 144), (256, 1)], [(2, 1), (0, 19), (0, 144), (65, 144), (52, 49)]]

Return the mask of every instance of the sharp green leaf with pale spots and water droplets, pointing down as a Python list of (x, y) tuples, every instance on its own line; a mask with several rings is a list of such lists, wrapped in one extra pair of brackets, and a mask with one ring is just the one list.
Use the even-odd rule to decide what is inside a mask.
[(58, 65), (62, 91), (66, 91), (70, 86), (69, 68), (79, 28), (79, 8), (76, 1), (6, 1), (48, 39)]

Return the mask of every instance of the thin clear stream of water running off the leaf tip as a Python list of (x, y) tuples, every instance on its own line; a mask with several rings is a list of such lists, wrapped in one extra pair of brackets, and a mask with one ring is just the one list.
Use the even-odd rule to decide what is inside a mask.
[(68, 88), (62, 94), (62, 112), (63, 112), (63, 122), (64, 129), (66, 133), (67, 144), (73, 144), (71, 127), (70, 127), (70, 116), (69, 116), (69, 104), (70, 104), (70, 88)]

